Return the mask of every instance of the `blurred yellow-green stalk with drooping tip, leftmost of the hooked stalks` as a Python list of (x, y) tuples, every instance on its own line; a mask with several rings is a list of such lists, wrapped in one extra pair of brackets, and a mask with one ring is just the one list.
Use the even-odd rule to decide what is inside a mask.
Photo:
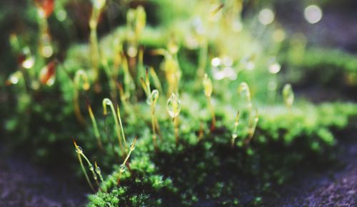
[(81, 124), (86, 124), (86, 120), (81, 114), (79, 107), (79, 90), (89, 90), (89, 79), (84, 70), (77, 70), (74, 75), (74, 114)]

